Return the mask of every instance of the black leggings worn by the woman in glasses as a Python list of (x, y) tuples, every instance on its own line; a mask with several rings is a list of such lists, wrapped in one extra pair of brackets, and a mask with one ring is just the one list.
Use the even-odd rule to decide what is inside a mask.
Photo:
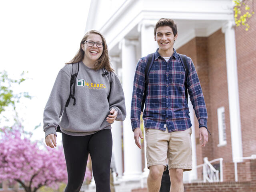
[(68, 184), (65, 192), (80, 191), (88, 153), (92, 158), (96, 192), (110, 192), (111, 130), (104, 129), (86, 136), (70, 136), (62, 133), (62, 142), (68, 170)]

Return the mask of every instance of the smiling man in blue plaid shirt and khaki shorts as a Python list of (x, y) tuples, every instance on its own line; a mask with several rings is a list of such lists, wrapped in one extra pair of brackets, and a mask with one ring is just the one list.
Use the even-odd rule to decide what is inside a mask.
[[(171, 192), (183, 192), (183, 171), (192, 170), (191, 122), (185, 96), (185, 70), (173, 48), (178, 37), (177, 26), (171, 19), (158, 20), (154, 40), (158, 49), (148, 76), (145, 110), (146, 157), (149, 168), (148, 191), (158, 192), (168, 160)], [(140, 58), (134, 76), (131, 106), (131, 123), (136, 145), (139, 137), (140, 107), (145, 88), (146, 57)], [(202, 146), (208, 142), (207, 111), (204, 96), (192, 60), (189, 64), (187, 88), (199, 122)]]

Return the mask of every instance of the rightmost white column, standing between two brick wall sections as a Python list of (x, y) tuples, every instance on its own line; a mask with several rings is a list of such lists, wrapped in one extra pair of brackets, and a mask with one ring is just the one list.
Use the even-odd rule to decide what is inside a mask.
[(236, 64), (236, 38), (234, 22), (228, 21), (223, 27), (225, 33), (226, 66), (228, 76), (228, 104), (230, 116), (230, 132), (232, 142), (232, 156), (234, 162), (241, 162), (243, 157), (241, 119), (238, 94), (238, 76)]

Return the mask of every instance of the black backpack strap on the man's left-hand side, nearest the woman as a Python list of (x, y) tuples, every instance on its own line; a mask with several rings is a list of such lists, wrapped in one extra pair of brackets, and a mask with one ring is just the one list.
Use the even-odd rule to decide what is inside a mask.
[(148, 75), (149, 75), (150, 69), (154, 63), (154, 59), (155, 59), (154, 56), (155, 56), (154, 53), (148, 54), (148, 56), (147, 56), (146, 67), (144, 70), (145, 89), (144, 89), (143, 98), (142, 98), (142, 102), (141, 102), (141, 108), (140, 108), (140, 110), (142, 112), (143, 112), (145, 101), (146, 101), (146, 94), (147, 94), (147, 87), (148, 87)]

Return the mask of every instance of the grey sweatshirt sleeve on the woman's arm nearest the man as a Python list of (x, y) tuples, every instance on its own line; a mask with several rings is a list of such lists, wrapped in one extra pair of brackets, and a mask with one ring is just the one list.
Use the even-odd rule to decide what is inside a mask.
[(114, 108), (117, 111), (117, 121), (124, 121), (126, 117), (126, 108), (125, 108), (125, 102), (124, 102), (124, 91), (121, 85), (120, 80), (118, 79), (118, 76), (114, 73), (113, 74), (113, 80), (111, 83), (111, 91), (109, 96), (109, 111)]

